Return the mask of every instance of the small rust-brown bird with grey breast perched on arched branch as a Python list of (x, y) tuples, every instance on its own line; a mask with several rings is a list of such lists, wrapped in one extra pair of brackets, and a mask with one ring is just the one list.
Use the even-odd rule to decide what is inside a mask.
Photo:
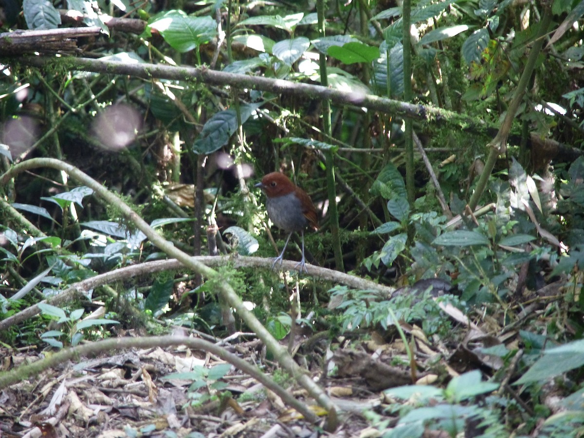
[(294, 185), (286, 175), (280, 172), (268, 173), (257, 183), (266, 194), (267, 215), (276, 227), (288, 232), (288, 238), (284, 249), (272, 263), (272, 269), (277, 262), (282, 264), (284, 251), (293, 232), (300, 232), (302, 237), (302, 259), (296, 267), (300, 266), (300, 273), (308, 273), (304, 258), (304, 230), (307, 227), (318, 230), (317, 209), (312, 199), (303, 189)]

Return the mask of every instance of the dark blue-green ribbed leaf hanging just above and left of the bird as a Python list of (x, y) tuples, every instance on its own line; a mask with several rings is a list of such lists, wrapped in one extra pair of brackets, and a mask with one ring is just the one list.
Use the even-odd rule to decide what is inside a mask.
[[(249, 116), (262, 105), (263, 103), (241, 105), (239, 107), (241, 123), (245, 123)], [(193, 152), (204, 155), (212, 154), (227, 144), (235, 130), (237, 130), (237, 114), (235, 110), (228, 109), (213, 114), (213, 117), (204, 124), (199, 138), (194, 141)]]

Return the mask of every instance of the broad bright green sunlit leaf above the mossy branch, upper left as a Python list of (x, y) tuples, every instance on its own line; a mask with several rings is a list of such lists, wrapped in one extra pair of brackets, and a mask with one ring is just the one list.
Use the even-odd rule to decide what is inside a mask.
[(148, 28), (158, 30), (164, 40), (181, 53), (208, 43), (217, 34), (217, 23), (210, 16), (191, 17), (177, 10), (166, 12)]

